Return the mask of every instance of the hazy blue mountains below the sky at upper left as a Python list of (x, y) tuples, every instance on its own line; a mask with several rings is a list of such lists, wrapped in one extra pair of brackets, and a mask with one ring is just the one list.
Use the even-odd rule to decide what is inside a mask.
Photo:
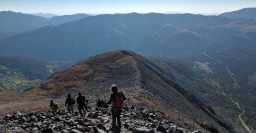
[(34, 16), (31, 14), (2, 11), (0, 12), (0, 38), (37, 29), (46, 25), (59, 25), (69, 21), (79, 20), (87, 16), (89, 15), (74, 14), (44, 18), (42, 16)]

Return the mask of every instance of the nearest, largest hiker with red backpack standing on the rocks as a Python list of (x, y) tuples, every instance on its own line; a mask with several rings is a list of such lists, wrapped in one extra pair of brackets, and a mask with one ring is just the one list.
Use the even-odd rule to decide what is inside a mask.
[[(112, 85), (111, 91), (113, 92), (111, 94), (109, 102), (106, 104), (111, 104), (112, 103), (112, 130), (114, 128), (117, 128), (117, 130), (121, 130), (122, 125), (121, 125), (121, 112), (122, 112), (122, 106), (123, 106), (123, 101), (126, 100), (126, 97), (124, 96), (124, 93), (121, 91), (118, 91), (116, 85)], [(117, 125), (115, 124), (117, 120)]]

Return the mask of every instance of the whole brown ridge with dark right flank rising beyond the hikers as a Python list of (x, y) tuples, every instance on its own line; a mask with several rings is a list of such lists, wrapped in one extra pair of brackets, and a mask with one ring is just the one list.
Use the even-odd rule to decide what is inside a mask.
[(18, 108), (21, 111), (42, 111), (47, 108), (51, 98), (58, 103), (64, 103), (67, 93), (76, 95), (79, 91), (89, 100), (98, 98), (106, 100), (111, 94), (109, 87), (115, 84), (133, 104), (158, 110), (186, 129), (234, 132), (212, 108), (199, 102), (195, 96), (186, 92), (159, 69), (144, 57), (126, 50), (104, 53), (53, 74), (41, 85), (23, 94), (12, 93), (19, 95), (14, 99), (24, 98), (24, 100), (12, 104), (3, 101), (0, 109), (7, 112)]

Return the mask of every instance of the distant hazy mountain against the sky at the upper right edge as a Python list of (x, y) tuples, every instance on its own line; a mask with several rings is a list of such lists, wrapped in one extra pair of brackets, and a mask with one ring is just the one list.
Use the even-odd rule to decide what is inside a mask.
[(256, 8), (244, 8), (233, 12), (226, 12), (219, 16), (228, 18), (256, 18)]

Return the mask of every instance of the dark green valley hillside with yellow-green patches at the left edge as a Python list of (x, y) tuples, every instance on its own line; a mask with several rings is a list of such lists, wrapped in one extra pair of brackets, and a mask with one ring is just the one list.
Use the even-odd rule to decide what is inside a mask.
[(38, 85), (68, 63), (51, 63), (25, 57), (0, 57), (0, 91), (23, 91)]

